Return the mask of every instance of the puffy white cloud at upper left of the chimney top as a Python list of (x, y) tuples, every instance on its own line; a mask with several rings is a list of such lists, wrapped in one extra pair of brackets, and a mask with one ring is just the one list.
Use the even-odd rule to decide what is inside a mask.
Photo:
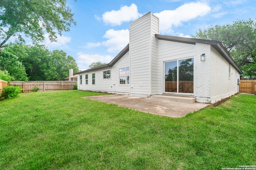
[[(105, 12), (102, 15), (102, 20), (105, 24), (110, 24), (112, 26), (121, 25), (123, 22), (134, 21), (140, 18), (142, 14), (138, 13), (138, 8), (135, 4), (131, 6), (122, 6), (120, 10), (112, 10), (110, 12)], [(96, 17), (99, 20), (98, 17)]]

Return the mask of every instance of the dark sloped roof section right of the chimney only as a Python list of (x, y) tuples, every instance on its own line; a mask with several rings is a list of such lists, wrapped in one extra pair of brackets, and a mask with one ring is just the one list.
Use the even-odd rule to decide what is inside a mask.
[(213, 41), (213, 40), (205, 40), (205, 39), (196, 39), (196, 38), (185, 38), (185, 37), (175, 37), (170, 35), (159, 35), (156, 34), (156, 38), (166, 40), (166, 41), (174, 41), (179, 43), (188, 43), (188, 44), (196, 44), (196, 43), (202, 43), (202, 44), (210, 44), (214, 49), (216, 49), (227, 61), (230, 63), (240, 74), (243, 74), (242, 70), (239, 68), (239, 66), (236, 64), (236, 62), (232, 59), (232, 57), (229, 55), (228, 51), (225, 49), (225, 47), (222, 45), (220, 41)]

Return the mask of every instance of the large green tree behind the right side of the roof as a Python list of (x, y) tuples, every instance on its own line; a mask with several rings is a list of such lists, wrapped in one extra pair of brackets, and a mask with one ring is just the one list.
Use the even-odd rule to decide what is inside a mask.
[(248, 21), (235, 21), (232, 25), (215, 25), (207, 29), (198, 29), (193, 38), (220, 41), (244, 75), (256, 75), (256, 23)]

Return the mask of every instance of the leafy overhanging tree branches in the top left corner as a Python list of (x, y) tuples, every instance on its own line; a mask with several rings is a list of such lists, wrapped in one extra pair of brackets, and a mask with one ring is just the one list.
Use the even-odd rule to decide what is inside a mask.
[(56, 32), (70, 31), (76, 25), (66, 0), (0, 0), (0, 50), (10, 37), (24, 42), (20, 33), (33, 42), (56, 41)]

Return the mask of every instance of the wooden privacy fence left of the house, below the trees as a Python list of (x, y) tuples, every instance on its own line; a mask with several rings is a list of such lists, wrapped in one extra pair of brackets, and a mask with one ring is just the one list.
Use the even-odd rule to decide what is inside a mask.
[(23, 88), (23, 93), (34, 92), (33, 88), (37, 86), (39, 88), (38, 92), (46, 92), (52, 90), (73, 90), (76, 81), (18, 81), (10, 82), (10, 86), (18, 85)]

